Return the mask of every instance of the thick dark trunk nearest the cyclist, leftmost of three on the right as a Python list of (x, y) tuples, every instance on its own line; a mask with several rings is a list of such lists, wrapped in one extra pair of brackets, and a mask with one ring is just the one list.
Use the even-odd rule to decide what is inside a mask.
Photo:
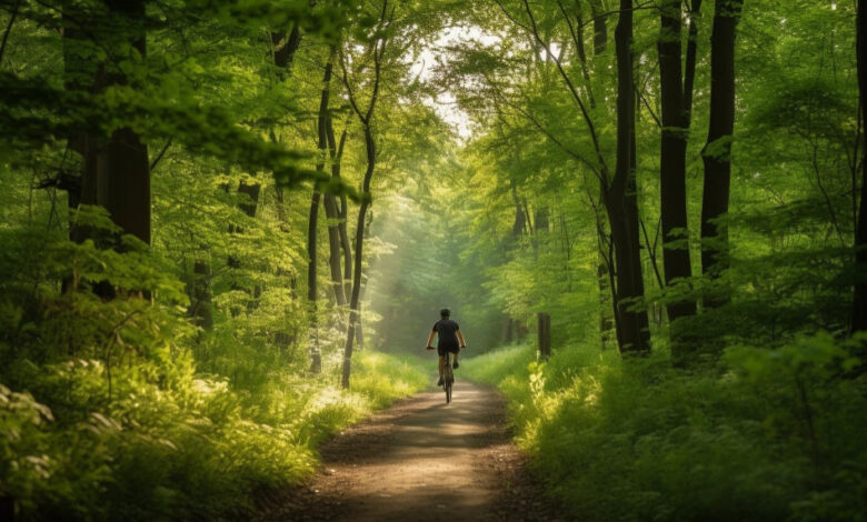
[(632, 50), (632, 2), (620, 0), (615, 29), (617, 54), (617, 164), (615, 178), (605, 191), (617, 267), (618, 340), (622, 353), (650, 350), (647, 312), (631, 310), (644, 298), (638, 198), (635, 183), (635, 86)]

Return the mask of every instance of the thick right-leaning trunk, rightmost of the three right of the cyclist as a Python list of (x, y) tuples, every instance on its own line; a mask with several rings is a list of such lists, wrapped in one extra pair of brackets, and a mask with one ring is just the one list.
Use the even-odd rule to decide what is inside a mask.
[[(718, 278), (729, 267), (728, 213), (731, 138), (735, 130), (735, 38), (744, 0), (717, 0), (710, 36), (710, 122), (702, 150), (705, 187), (701, 199), (701, 271)], [(705, 299), (706, 308), (728, 302), (725, 295)]]

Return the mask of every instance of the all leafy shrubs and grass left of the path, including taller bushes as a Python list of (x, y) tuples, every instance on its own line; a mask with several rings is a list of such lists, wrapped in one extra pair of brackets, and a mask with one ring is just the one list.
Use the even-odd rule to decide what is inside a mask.
[(261, 307), (196, 329), (166, 260), (122, 240), (0, 230), (0, 509), (17, 520), (242, 519), (329, 434), (428, 383), (415, 359), (360, 351), (341, 390), (336, 350), (308, 373)]

